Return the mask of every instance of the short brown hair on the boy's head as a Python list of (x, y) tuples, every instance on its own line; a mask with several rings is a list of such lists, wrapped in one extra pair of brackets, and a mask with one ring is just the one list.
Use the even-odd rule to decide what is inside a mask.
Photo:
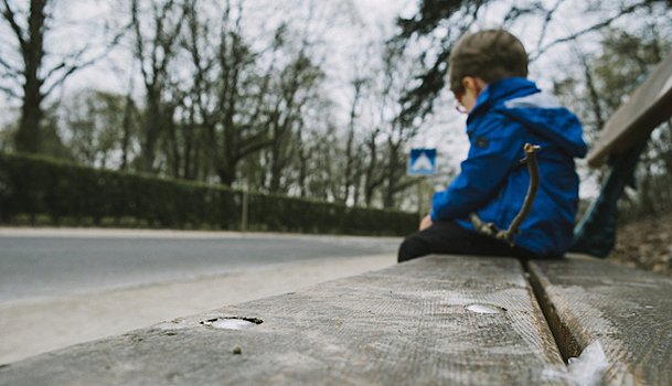
[(448, 60), (448, 82), (456, 95), (465, 76), (486, 83), (527, 77), (527, 53), (518, 37), (504, 30), (487, 30), (460, 37)]

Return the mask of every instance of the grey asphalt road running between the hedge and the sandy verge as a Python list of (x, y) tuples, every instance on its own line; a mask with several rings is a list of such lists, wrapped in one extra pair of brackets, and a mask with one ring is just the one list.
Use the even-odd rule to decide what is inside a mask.
[(175, 232), (0, 232), (0, 302), (394, 253), (396, 238)]

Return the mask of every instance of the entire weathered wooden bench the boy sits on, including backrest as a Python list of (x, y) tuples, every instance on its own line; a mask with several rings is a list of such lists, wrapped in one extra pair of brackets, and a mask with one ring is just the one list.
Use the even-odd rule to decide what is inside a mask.
[[(672, 114), (671, 76), (672, 55), (590, 152), (612, 172), (575, 250), (612, 247), (616, 199)], [(0, 385), (72, 384), (671, 385), (672, 279), (586, 255), (429, 256), (0, 367)]]

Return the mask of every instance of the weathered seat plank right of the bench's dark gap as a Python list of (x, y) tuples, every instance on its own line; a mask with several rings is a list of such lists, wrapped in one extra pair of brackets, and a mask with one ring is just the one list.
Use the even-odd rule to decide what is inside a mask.
[(672, 279), (593, 258), (530, 262), (565, 356), (598, 341), (609, 385), (672, 385)]

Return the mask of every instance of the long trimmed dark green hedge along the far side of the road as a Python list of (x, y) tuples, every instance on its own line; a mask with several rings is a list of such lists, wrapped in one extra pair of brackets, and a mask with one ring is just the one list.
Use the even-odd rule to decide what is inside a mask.
[[(417, 215), (348, 207), (259, 193), (248, 195), (248, 228), (348, 235), (410, 234)], [(224, 186), (97, 170), (0, 153), (0, 222), (46, 217), (53, 224), (121, 224), (166, 228), (239, 229), (243, 192)]]

